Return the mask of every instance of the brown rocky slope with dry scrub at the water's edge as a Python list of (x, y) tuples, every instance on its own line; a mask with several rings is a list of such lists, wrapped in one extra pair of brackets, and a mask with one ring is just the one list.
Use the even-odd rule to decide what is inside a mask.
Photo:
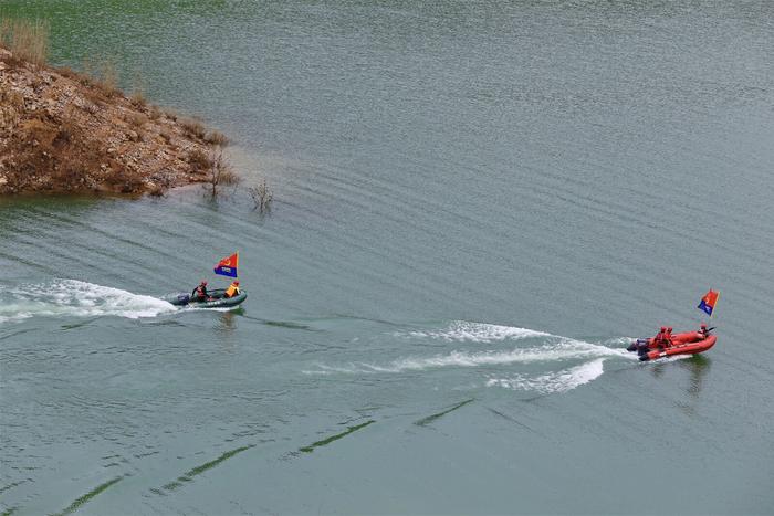
[(0, 193), (161, 193), (207, 181), (226, 138), (0, 46)]

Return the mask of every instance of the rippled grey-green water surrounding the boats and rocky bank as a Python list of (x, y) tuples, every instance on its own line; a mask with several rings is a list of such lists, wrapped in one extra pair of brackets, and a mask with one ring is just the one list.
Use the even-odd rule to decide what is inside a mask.
[(275, 196), (0, 201), (3, 514), (774, 509), (774, 3), (3, 10)]

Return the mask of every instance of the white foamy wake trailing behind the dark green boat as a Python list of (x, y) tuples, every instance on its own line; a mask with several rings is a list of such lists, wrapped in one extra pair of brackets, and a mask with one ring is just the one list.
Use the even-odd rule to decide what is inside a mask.
[(127, 318), (175, 312), (166, 301), (77, 280), (56, 280), (0, 292), (0, 324), (38, 316)]

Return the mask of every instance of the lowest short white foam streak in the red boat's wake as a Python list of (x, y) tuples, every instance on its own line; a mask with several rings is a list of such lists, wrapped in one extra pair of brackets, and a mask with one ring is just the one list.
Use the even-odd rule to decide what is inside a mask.
[(599, 378), (604, 372), (604, 358), (597, 358), (569, 369), (538, 376), (513, 375), (509, 378), (491, 378), (487, 381), (487, 387), (502, 387), (512, 390), (540, 392), (542, 394), (566, 392)]

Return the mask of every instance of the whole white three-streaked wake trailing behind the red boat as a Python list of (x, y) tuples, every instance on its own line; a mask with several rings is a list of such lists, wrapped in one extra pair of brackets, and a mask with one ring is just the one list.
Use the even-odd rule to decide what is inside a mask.
[[(637, 360), (623, 347), (630, 341), (616, 337), (586, 341), (529, 328), (483, 323), (453, 322), (446, 328), (397, 331), (404, 343), (450, 343), (447, 352), (404, 356), (391, 361), (316, 364), (306, 375), (378, 375), (433, 370), (468, 371), (487, 387), (537, 393), (564, 392), (598, 378), (608, 359)], [(481, 349), (485, 345), (488, 349)], [(467, 349), (466, 349), (467, 348)], [(478, 383), (478, 382), (475, 382)]]

